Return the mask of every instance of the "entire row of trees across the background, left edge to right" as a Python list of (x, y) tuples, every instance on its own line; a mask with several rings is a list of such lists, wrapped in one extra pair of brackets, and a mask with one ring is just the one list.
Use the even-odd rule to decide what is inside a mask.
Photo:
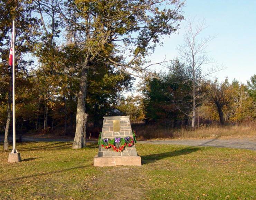
[[(165, 5), (165, 6), (163, 6)], [(183, 20), (179, 0), (0, 0), (0, 131), (8, 149), (12, 74), (11, 24), (16, 20), (16, 126), (18, 133), (74, 134), (85, 146), (88, 125), (122, 112), (132, 121), (195, 128), (200, 122), (240, 123), (256, 118), (256, 77), (247, 84), (208, 76), (222, 70), (208, 57), (203, 21), (188, 19), (180, 57), (152, 72), (148, 57)], [(195, 29), (193, 27), (196, 27)], [(158, 66), (161, 67), (159, 63)], [(205, 68), (212, 64), (213, 67)], [(141, 78), (140, 95), (134, 92)], [(118, 110), (116, 110), (118, 109)]]

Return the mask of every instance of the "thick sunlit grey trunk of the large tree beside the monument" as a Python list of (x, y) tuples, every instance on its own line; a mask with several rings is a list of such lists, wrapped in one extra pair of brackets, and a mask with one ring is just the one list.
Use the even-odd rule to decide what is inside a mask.
[(76, 111), (76, 133), (73, 142), (73, 149), (81, 149), (85, 147), (85, 128), (88, 114), (85, 112), (87, 93), (87, 69), (83, 68), (80, 77), (80, 89), (77, 98), (77, 111)]

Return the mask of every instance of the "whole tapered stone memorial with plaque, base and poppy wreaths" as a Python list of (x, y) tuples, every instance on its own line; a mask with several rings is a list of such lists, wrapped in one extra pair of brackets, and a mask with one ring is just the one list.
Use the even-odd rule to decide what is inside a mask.
[(99, 142), (101, 145), (93, 159), (94, 166), (141, 166), (129, 116), (104, 117)]

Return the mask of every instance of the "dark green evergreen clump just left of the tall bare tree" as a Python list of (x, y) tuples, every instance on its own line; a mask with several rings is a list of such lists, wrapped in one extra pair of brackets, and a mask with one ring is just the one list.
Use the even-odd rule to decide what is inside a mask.
[(184, 84), (190, 79), (188, 76), (184, 63), (176, 59), (171, 62), (167, 73), (158, 75), (159, 79), (149, 78), (145, 81), (142, 91), (147, 120), (162, 120), (167, 125), (172, 123), (176, 126), (178, 120), (184, 119), (188, 124), (192, 103), (190, 89)]

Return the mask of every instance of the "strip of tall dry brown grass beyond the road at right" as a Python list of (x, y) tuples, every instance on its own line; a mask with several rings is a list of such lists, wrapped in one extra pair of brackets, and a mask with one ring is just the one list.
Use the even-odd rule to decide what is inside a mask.
[(189, 127), (167, 129), (157, 124), (136, 124), (133, 126), (133, 130), (135, 130), (137, 137), (140, 139), (256, 137), (256, 122), (227, 126), (201, 126), (195, 130)]

